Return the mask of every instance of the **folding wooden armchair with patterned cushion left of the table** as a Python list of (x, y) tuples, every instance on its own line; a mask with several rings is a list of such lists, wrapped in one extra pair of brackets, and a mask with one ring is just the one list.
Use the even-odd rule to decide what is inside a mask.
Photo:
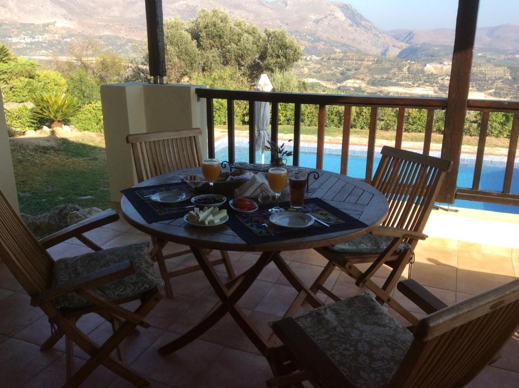
[[(65, 386), (79, 386), (99, 365), (137, 386), (149, 385), (144, 377), (122, 363), (119, 349), (121, 341), (136, 326), (149, 327), (145, 317), (162, 298), (157, 287), (163, 282), (149, 258), (149, 244), (102, 250), (83, 236), (118, 218), (115, 211), (104, 212), (46, 237), (40, 244), (0, 191), (0, 257), (31, 296), (31, 304), (49, 317), (51, 336), (41, 349), (51, 349), (65, 336)], [(45, 249), (72, 237), (94, 251), (54, 262)], [(135, 311), (120, 306), (132, 300), (141, 301)], [(82, 315), (92, 312), (108, 320), (114, 330), (101, 346), (76, 326)], [(90, 356), (75, 373), (74, 343)], [(110, 356), (114, 350), (119, 360)]]

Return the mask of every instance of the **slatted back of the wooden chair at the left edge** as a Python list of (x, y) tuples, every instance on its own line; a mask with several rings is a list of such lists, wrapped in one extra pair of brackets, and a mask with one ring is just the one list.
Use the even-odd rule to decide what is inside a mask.
[(50, 288), (54, 261), (0, 191), (0, 258), (18, 282), (36, 295)]

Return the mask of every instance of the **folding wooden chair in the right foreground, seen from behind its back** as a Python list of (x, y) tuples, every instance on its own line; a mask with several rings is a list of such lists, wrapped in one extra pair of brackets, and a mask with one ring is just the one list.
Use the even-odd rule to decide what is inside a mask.
[(411, 330), (367, 292), (275, 322), (267, 386), (461, 387), (519, 325), (519, 279), (449, 307), (412, 279), (398, 289), (429, 313)]

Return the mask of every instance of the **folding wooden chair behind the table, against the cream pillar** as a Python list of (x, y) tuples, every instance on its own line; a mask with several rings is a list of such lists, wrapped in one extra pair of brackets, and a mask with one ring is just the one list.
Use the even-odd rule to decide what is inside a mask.
[[(142, 182), (157, 175), (185, 168), (195, 168), (202, 165), (202, 149), (200, 146), (200, 128), (172, 130), (128, 135), (126, 142), (131, 144), (133, 162), (137, 180)], [(199, 265), (192, 265), (182, 270), (168, 272), (166, 259), (192, 253), (190, 249), (163, 255), (162, 249), (167, 242), (151, 236), (154, 244), (152, 259), (159, 265), (160, 275), (166, 286), (166, 296), (173, 298), (170, 277), (181, 276), (190, 272), (199, 271)], [(208, 251), (207, 253), (209, 253)], [(213, 260), (212, 265), (224, 264), (229, 277), (236, 276), (227, 251), (220, 251), (221, 259)]]

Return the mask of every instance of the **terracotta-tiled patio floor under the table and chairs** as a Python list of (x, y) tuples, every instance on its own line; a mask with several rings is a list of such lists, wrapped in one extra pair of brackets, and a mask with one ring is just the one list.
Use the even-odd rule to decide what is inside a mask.
[[(513, 248), (517, 244), (517, 234), (515, 239), (513, 235), (507, 237), (510, 228), (513, 231), (519, 225), (519, 216), (499, 217), (495, 214), (489, 214), (487, 219), (480, 218), (476, 226), (472, 226), (473, 233), (465, 231), (456, 234), (465, 238), (457, 240), (441, 236), (445, 236), (446, 231), (464, 217), (467, 219), (464, 223), (466, 228), (471, 228), (474, 219), (481, 213), (474, 216), (474, 212), (470, 211), (456, 215), (441, 210), (433, 212), (426, 230), (431, 237), (418, 244), (412, 277), (448, 304), (509, 282), (515, 276), (519, 277), (519, 249)], [(497, 239), (497, 243), (496, 239), (490, 240), (488, 237), (490, 228), (496, 227), (504, 234), (503, 238)], [(494, 229), (491, 232), (494, 233)], [(453, 233), (451, 231), (448, 235)], [(149, 239), (123, 220), (87, 235), (106, 248)], [(491, 242), (499, 245), (488, 245)], [(169, 250), (180, 248), (168, 245)], [(55, 259), (88, 251), (87, 247), (74, 239), (49, 250)], [(257, 258), (255, 253), (243, 252), (231, 252), (230, 256), (237, 273), (247, 269)], [(307, 283), (317, 276), (325, 264), (325, 260), (312, 250), (284, 252), (283, 257)], [(193, 262), (192, 257), (185, 256), (170, 260), (168, 265), (180, 269)], [(265, 335), (269, 335), (267, 323), (284, 313), (296, 293), (272, 264), (265, 268), (240, 301), (240, 306)], [(218, 267), (217, 271), (222, 273), (222, 277), (226, 276), (223, 267)], [(384, 276), (384, 271), (381, 270), (381, 276)], [(359, 292), (353, 282), (339, 271), (335, 271), (328, 286), (333, 287), (333, 291), (341, 297)], [(179, 337), (197, 323), (216, 301), (215, 294), (201, 272), (176, 278), (173, 290), (175, 299), (163, 299), (149, 315), (152, 327), (140, 329), (139, 335), (123, 343), (127, 362), (152, 380), (152, 386), (157, 387), (264, 387), (265, 380), (271, 376), (267, 362), (228, 315), (184, 349), (166, 357), (157, 353), (158, 347)], [(398, 291), (394, 297), (417, 316), (424, 315), (401, 297)], [(31, 307), (29, 301), (29, 296), (5, 264), (0, 262), (0, 311), (3, 312), (0, 319), (0, 385), (61, 386), (65, 382), (64, 341), (61, 340), (52, 351), (39, 351), (39, 345), (48, 337), (50, 327), (46, 316), (39, 309)], [(111, 332), (110, 325), (92, 314), (81, 318), (78, 325), (99, 341)], [(76, 350), (76, 366), (85, 359), (86, 355)], [(99, 367), (84, 386), (129, 385), (104, 367)], [(519, 335), (510, 339), (502, 351), (501, 359), (487, 367), (469, 386), (519, 386)]]

